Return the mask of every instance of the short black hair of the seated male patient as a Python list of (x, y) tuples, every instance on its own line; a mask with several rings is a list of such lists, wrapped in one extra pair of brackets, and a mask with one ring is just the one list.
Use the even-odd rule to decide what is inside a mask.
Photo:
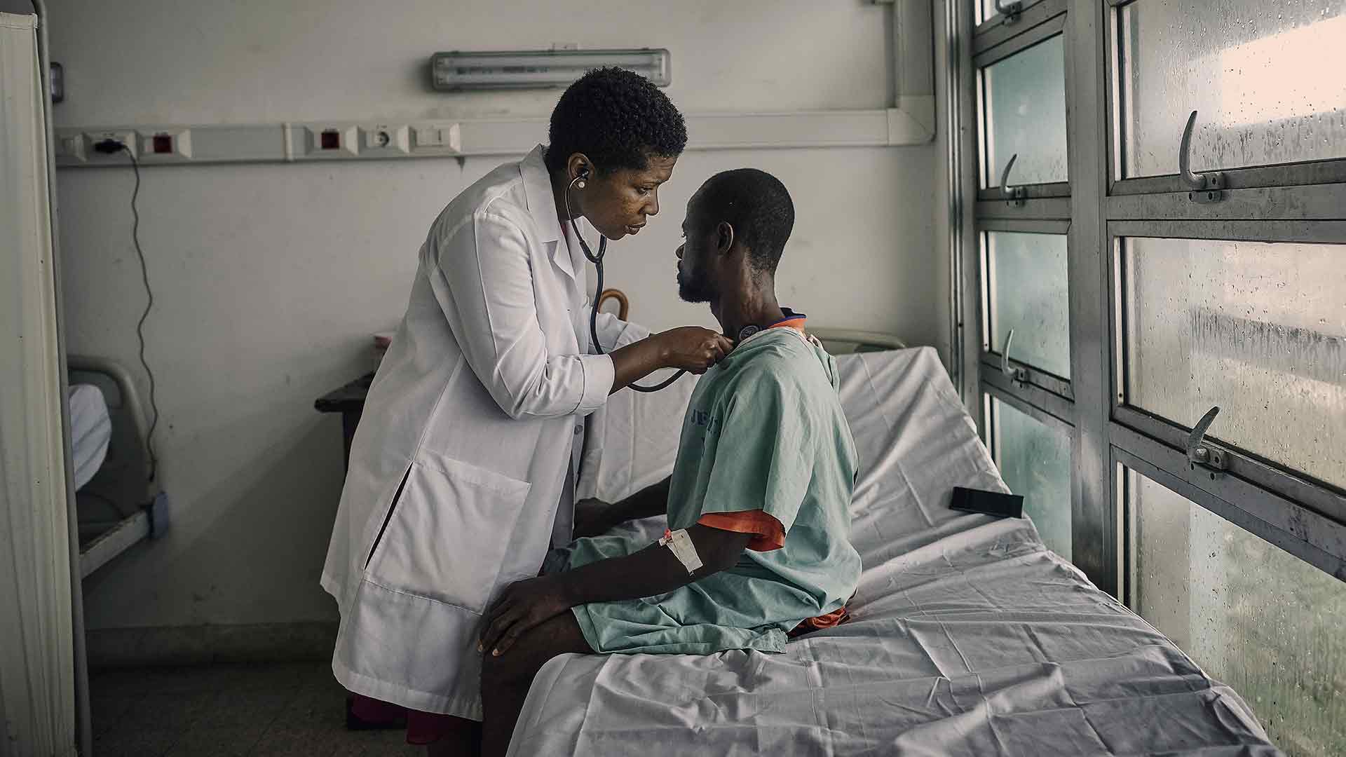
[(781, 179), (758, 168), (721, 171), (701, 185), (689, 205), (699, 229), (730, 224), (752, 268), (775, 273), (794, 229), (794, 202)]

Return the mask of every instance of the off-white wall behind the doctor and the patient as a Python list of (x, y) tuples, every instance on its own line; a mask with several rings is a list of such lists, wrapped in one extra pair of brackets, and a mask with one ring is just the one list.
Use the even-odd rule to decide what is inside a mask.
[[(882, 108), (888, 92), (884, 11), (864, 0), (52, 5), (67, 82), (58, 127), (545, 116), (557, 92), (436, 94), (424, 62), (571, 42), (669, 47), (668, 92), (685, 112)], [(174, 520), (167, 537), (86, 581), (90, 628), (335, 617), (316, 581), (341, 426), (312, 401), (373, 368), (369, 334), (400, 318), (431, 220), (505, 159), (143, 171), (148, 360)], [(690, 193), (740, 166), (777, 174), (795, 199), (785, 303), (818, 326), (944, 346), (933, 145), (684, 155), (661, 216), (610, 249), (610, 286), (630, 295), (633, 319), (712, 323), (677, 300), (673, 249)], [(67, 168), (59, 186), (70, 350), (140, 374), (131, 171)]]

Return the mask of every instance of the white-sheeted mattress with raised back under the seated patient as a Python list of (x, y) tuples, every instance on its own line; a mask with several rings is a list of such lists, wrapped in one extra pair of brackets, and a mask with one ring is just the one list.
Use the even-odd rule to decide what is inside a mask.
[[(1234, 691), (1049, 552), (1031, 521), (948, 509), (954, 485), (1004, 484), (934, 350), (839, 362), (863, 463), (853, 620), (781, 655), (553, 659), (510, 754), (1277, 754)], [(615, 428), (630, 423), (621, 407)], [(653, 418), (666, 426), (669, 408)], [(616, 443), (595, 449), (630, 459)], [(610, 498), (668, 473), (586, 462), (581, 485)]]

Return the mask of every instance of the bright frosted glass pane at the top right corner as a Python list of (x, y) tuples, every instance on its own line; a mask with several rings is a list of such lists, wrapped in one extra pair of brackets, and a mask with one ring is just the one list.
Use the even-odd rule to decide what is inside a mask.
[(1127, 176), (1346, 156), (1346, 3), (1167, 0), (1121, 9)]

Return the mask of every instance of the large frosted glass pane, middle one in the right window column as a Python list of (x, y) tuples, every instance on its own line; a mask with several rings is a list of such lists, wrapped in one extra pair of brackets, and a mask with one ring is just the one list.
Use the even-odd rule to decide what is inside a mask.
[(1123, 249), (1127, 401), (1346, 488), (1346, 245)]

